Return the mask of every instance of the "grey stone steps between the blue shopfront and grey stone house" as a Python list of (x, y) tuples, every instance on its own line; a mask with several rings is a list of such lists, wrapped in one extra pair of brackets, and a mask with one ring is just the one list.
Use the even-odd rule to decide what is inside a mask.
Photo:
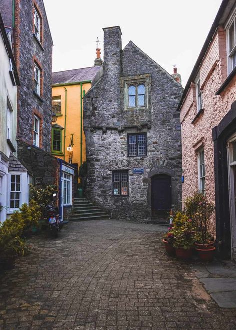
[(106, 211), (101, 210), (87, 198), (74, 198), (72, 221), (109, 219)]

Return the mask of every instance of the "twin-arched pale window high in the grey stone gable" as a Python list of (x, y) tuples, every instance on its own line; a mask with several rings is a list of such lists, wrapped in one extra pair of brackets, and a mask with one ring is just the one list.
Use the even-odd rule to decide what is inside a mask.
[(132, 84), (128, 87), (128, 107), (144, 107), (145, 106), (145, 85)]

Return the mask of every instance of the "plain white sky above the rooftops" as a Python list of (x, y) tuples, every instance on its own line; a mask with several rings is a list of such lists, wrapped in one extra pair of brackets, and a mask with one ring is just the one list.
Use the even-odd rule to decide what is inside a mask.
[(119, 25), (122, 48), (132, 40), (184, 86), (221, 0), (44, 0), (53, 38), (53, 71), (94, 65), (96, 38)]

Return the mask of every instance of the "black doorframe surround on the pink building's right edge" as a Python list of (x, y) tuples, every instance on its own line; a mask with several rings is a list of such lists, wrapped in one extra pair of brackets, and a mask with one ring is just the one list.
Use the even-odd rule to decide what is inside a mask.
[(215, 168), (216, 249), (220, 258), (231, 258), (227, 141), (236, 131), (236, 101), (212, 129)]

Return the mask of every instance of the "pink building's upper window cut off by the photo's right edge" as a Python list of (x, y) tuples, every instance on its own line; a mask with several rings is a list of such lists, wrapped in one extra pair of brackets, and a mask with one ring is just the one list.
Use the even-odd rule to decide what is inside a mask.
[(228, 28), (228, 73), (236, 67), (236, 15)]

